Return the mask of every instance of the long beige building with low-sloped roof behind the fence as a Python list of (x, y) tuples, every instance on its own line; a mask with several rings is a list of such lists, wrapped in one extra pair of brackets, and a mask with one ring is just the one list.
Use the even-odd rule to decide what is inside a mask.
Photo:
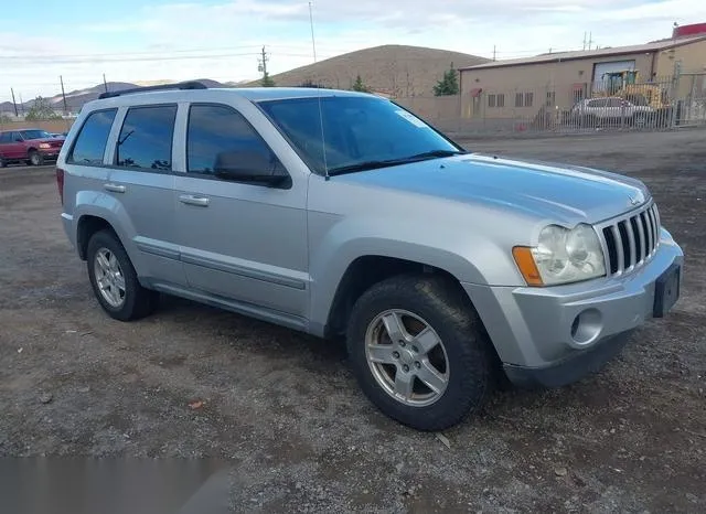
[(531, 121), (541, 113), (558, 115), (605, 90), (608, 74), (622, 71), (637, 71), (640, 84), (657, 84), (671, 99), (706, 98), (706, 32), (461, 68), (461, 117)]

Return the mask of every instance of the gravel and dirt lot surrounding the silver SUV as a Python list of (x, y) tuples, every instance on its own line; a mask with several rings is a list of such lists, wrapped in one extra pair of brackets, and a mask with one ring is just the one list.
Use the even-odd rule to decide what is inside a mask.
[(643, 179), (687, 256), (675, 311), (579, 384), (496, 394), (448, 448), (377, 413), (335, 344), (176, 299), (111, 321), (51, 169), (7, 169), (0, 456), (215, 457), (247, 512), (705, 512), (706, 132), (466, 143)]

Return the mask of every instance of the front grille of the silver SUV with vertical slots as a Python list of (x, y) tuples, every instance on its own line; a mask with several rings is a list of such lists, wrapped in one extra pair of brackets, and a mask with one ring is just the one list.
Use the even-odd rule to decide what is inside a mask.
[(612, 219), (599, 227), (609, 275), (620, 275), (644, 265), (660, 242), (660, 213), (655, 204), (637, 214)]

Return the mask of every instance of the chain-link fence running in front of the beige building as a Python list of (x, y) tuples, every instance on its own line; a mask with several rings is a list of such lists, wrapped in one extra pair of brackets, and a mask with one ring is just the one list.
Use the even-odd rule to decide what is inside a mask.
[[(396, 101), (446, 132), (665, 130), (706, 126), (706, 74), (649, 82), (517, 85)], [(456, 105), (456, 114), (449, 115)]]

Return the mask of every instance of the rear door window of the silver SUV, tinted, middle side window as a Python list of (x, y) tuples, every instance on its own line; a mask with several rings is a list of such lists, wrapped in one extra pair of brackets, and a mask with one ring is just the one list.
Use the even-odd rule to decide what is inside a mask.
[(142, 170), (171, 170), (175, 116), (175, 105), (130, 108), (118, 137), (116, 164)]

